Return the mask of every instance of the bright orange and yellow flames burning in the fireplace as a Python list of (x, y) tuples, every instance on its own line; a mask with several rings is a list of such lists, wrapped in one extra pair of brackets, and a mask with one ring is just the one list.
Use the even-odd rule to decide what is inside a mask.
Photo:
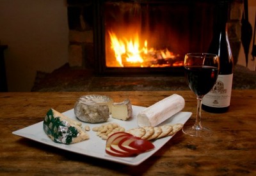
[[(170, 66), (170, 59), (175, 59), (177, 55), (173, 55), (167, 48), (164, 50), (148, 49), (148, 41), (144, 41), (143, 47), (140, 46), (138, 34), (134, 34), (134, 38), (118, 39), (115, 33), (108, 31), (111, 42), (111, 49), (115, 53), (115, 59), (120, 67), (136, 66), (136, 67), (163, 67)], [(179, 56), (179, 55), (178, 55)], [(159, 64), (159, 60), (161, 64)]]

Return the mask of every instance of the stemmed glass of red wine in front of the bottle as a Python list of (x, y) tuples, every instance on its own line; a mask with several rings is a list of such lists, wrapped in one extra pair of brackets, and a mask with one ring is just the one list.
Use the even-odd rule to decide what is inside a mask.
[(193, 126), (184, 127), (182, 131), (190, 136), (210, 136), (212, 130), (202, 126), (202, 98), (214, 86), (220, 68), (219, 57), (216, 54), (189, 53), (185, 55), (184, 69), (186, 81), (191, 91), (196, 94), (196, 122)]

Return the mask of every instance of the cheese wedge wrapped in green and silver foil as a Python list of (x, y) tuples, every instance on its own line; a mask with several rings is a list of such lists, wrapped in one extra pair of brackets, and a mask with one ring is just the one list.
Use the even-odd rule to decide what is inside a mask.
[(89, 138), (88, 133), (81, 128), (81, 122), (73, 121), (52, 108), (45, 115), (43, 128), (57, 143), (77, 143)]

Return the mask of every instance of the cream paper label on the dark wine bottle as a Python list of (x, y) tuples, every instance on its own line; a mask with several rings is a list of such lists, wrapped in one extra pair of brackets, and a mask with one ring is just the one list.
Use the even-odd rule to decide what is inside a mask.
[(211, 91), (204, 96), (202, 103), (214, 108), (224, 108), (230, 105), (233, 74), (218, 75)]

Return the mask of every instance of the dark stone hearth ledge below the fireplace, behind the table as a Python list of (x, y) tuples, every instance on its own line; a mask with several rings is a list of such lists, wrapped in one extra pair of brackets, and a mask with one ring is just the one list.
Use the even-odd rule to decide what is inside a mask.
[[(233, 89), (256, 89), (256, 71), (237, 65)], [(92, 71), (70, 68), (65, 64), (52, 73), (38, 72), (31, 91), (173, 91), (189, 90), (185, 78), (170, 76), (97, 77)]]

